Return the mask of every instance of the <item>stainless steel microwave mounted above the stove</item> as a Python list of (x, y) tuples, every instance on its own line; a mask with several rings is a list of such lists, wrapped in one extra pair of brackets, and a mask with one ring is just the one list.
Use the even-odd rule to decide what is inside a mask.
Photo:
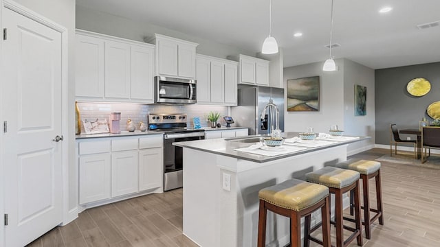
[(196, 80), (155, 77), (155, 103), (158, 104), (195, 104)]

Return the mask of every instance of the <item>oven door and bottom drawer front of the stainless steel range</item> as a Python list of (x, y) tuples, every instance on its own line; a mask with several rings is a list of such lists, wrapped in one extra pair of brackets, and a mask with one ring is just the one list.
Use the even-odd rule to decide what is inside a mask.
[(195, 141), (199, 137), (179, 137), (164, 140), (164, 191), (183, 186), (183, 148), (173, 145), (179, 141)]

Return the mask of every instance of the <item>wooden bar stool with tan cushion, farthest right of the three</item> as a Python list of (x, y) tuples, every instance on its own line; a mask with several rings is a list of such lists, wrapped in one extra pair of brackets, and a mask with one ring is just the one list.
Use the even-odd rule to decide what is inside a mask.
[[(382, 185), (380, 183), (380, 162), (377, 161), (367, 161), (360, 158), (351, 158), (348, 161), (342, 161), (336, 164), (336, 167), (343, 169), (351, 169), (353, 171), (360, 173), (360, 178), (362, 179), (362, 187), (364, 188), (364, 225), (365, 225), (365, 237), (371, 239), (371, 224), (377, 218), (379, 218), (379, 224), (384, 224), (384, 211), (382, 210)], [(370, 208), (370, 189), (369, 180), (375, 178), (376, 181), (376, 200), (377, 209)], [(353, 200), (350, 195), (350, 213), (353, 215)], [(373, 217), (370, 216), (370, 211), (374, 212)], [(348, 219), (347, 219), (348, 220)]]

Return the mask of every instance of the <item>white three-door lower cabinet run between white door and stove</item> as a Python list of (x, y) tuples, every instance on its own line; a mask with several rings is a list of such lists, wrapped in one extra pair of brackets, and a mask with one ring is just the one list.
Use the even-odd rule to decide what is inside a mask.
[(163, 191), (162, 134), (78, 142), (81, 205)]

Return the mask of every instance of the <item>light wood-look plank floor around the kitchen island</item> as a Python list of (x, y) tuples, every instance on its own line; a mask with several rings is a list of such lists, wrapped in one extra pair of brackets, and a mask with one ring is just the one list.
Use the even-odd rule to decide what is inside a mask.
[[(375, 159), (387, 152), (372, 149), (353, 157)], [(440, 246), (440, 169), (382, 162), (381, 171), (384, 226), (375, 222), (372, 238), (364, 238), (364, 246)], [(375, 205), (371, 184), (371, 204)], [(197, 244), (182, 235), (182, 191), (177, 189), (87, 209), (74, 222), (54, 228), (29, 246)]]

